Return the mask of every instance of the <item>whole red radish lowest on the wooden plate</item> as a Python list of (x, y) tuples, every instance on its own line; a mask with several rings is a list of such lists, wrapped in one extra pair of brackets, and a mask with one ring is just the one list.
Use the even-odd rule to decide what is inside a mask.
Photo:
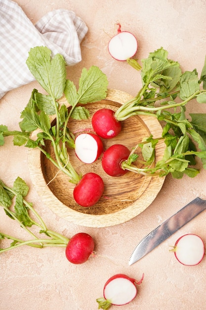
[(93, 172), (88, 172), (82, 176), (80, 182), (75, 186), (73, 196), (80, 206), (94, 206), (104, 192), (104, 182), (102, 178)]

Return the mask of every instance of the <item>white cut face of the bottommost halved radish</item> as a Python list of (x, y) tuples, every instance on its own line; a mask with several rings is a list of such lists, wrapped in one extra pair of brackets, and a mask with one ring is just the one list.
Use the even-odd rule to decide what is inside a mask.
[(136, 294), (135, 285), (126, 278), (116, 278), (108, 283), (104, 289), (104, 298), (116, 306), (128, 304), (135, 298)]

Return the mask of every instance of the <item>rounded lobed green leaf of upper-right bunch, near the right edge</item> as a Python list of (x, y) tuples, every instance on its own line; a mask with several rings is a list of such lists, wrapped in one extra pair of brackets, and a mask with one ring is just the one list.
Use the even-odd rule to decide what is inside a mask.
[(180, 77), (180, 98), (186, 100), (198, 90), (200, 90), (200, 84), (197, 70), (184, 72)]

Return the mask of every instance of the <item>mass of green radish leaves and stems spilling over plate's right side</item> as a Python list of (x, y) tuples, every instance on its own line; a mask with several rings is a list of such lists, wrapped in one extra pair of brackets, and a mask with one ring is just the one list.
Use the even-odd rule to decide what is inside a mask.
[[(174, 178), (181, 178), (183, 174), (195, 177), (199, 173), (194, 168), (195, 156), (201, 158), (206, 169), (206, 114), (191, 113), (189, 120), (186, 104), (192, 100), (196, 100), (195, 104), (206, 103), (206, 61), (198, 77), (196, 69), (182, 73), (180, 64), (167, 55), (161, 48), (142, 60), (142, 88), (134, 99), (115, 112), (118, 121), (133, 115), (149, 115), (156, 117), (163, 126), (162, 136), (145, 138), (122, 162), (122, 168), (149, 176), (171, 173)], [(165, 154), (153, 167), (151, 163), (160, 140), (165, 142)], [(141, 148), (144, 168), (137, 167), (137, 148)]]

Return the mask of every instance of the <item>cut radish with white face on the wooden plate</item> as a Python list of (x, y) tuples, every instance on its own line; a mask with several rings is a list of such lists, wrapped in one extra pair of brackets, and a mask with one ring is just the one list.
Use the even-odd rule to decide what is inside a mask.
[(84, 163), (92, 163), (102, 154), (102, 140), (93, 133), (82, 133), (75, 139), (75, 153)]

